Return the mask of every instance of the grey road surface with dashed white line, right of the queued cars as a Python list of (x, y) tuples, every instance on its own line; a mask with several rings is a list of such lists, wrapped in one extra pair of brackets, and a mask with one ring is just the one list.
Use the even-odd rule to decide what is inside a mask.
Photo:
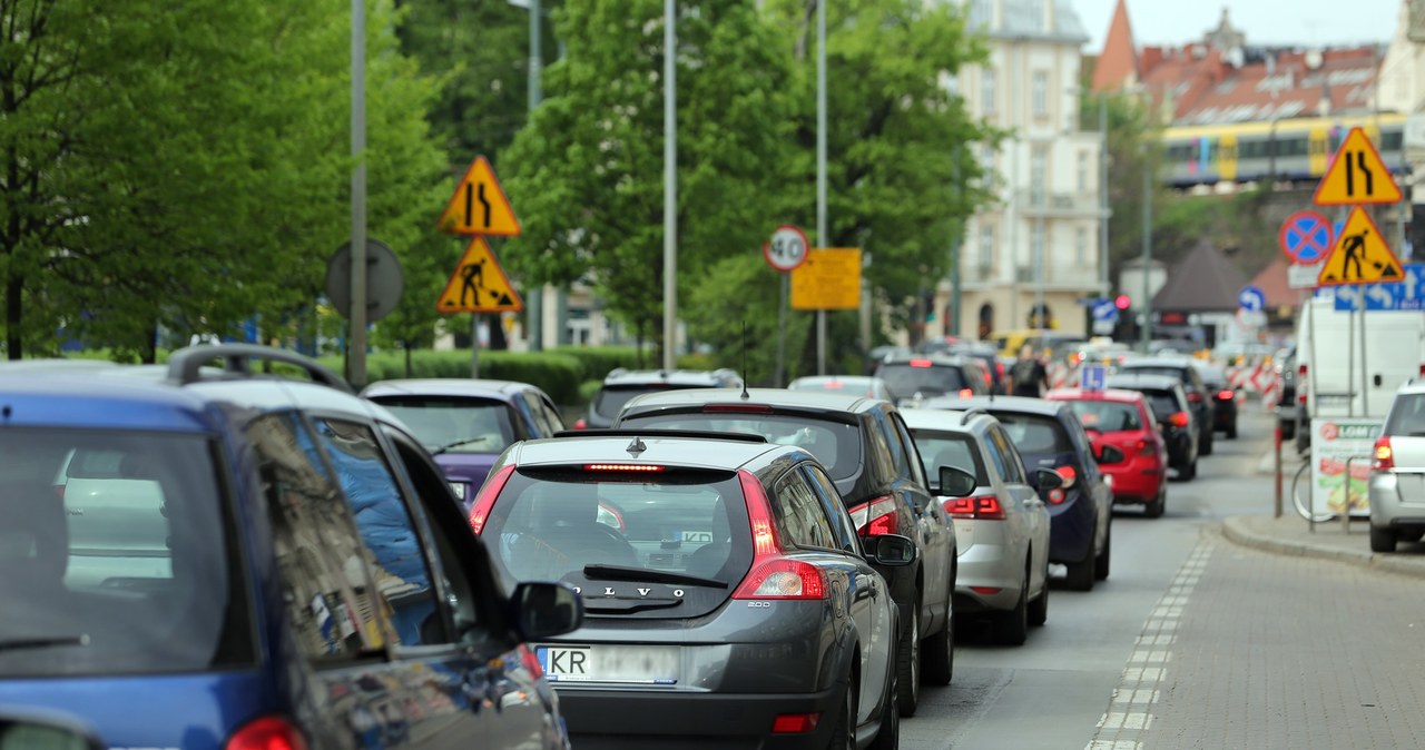
[(901, 747), (1425, 747), (1425, 579), (1221, 535), (1271, 511), (1271, 428), (1247, 404), (1163, 518), (1114, 514), (1109, 579), (1054, 588), (1023, 646), (962, 623), (955, 682), (923, 692)]

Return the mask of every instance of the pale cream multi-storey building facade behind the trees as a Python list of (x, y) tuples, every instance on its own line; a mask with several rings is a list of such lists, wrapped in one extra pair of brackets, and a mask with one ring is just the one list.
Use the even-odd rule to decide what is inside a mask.
[[(975, 147), (998, 199), (966, 225), (960, 316), (938, 316), (939, 333), (976, 339), (1040, 322), (1083, 333), (1082, 300), (1104, 292), (1103, 141), (1080, 130), (1079, 114), (1080, 48), (1089, 36), (1064, 1), (969, 0), (965, 10), (970, 30), (988, 41), (989, 61), (966, 65), (950, 84), (973, 117), (1009, 137), (998, 149)], [(950, 285), (942, 283), (940, 309), (949, 296)]]

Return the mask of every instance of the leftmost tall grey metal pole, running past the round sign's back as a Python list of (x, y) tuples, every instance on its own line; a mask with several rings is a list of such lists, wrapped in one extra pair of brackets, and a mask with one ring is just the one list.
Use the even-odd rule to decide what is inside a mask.
[(366, 1), (352, 0), (352, 309), (346, 379), (366, 384)]

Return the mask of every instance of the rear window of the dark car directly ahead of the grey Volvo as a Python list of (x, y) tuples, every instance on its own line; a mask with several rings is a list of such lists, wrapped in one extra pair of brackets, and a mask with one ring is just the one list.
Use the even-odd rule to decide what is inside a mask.
[(808, 414), (760, 414), (707, 411), (695, 414), (633, 414), (620, 428), (657, 427), (660, 430), (711, 430), (762, 435), (768, 443), (797, 445), (817, 457), (832, 480), (856, 475), (861, 468), (861, 430), (854, 424), (818, 420)]

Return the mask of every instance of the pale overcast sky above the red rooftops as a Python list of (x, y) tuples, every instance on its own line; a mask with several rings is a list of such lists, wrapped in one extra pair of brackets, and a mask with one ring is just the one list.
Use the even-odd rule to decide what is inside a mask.
[[(1069, 0), (1089, 44), (1084, 54), (1099, 54), (1117, 0)], [(1139, 46), (1178, 46), (1203, 38), (1228, 9), (1233, 27), (1248, 44), (1331, 46), (1389, 43), (1404, 0), (1127, 0), (1129, 26)]]

